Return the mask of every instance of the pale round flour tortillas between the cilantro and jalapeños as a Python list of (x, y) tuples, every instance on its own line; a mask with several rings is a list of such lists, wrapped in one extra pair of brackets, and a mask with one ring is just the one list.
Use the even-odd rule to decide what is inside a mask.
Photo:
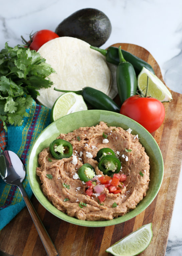
[(78, 91), (89, 86), (98, 89), (109, 97), (117, 94), (112, 88), (112, 76), (106, 58), (90, 45), (73, 37), (58, 37), (43, 44), (38, 52), (56, 71), (49, 76), (53, 82), (51, 88), (41, 88), (37, 100), (52, 108), (62, 90)]

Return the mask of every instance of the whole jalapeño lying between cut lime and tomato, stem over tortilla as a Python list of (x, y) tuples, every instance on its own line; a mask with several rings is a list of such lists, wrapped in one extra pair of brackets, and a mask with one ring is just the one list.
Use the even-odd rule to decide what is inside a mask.
[(85, 102), (95, 109), (120, 112), (119, 106), (108, 95), (92, 87), (84, 87), (81, 91), (65, 91), (56, 88), (54, 88), (54, 90), (63, 93), (73, 92), (82, 95)]

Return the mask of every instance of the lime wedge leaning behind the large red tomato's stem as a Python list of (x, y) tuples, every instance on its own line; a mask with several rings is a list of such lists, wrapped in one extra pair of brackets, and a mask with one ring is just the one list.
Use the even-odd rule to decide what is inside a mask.
[(138, 89), (143, 91), (145, 94), (147, 87), (147, 76), (149, 76), (148, 94), (161, 102), (171, 101), (172, 95), (167, 87), (156, 75), (152, 74), (148, 69), (144, 67), (138, 75)]

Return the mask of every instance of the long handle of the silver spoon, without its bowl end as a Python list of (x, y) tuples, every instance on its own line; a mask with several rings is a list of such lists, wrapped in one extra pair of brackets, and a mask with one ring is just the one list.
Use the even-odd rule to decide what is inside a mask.
[(31, 201), (29, 200), (29, 198), (28, 198), (28, 196), (27, 196), (27, 194), (26, 194), (22, 184), (18, 185), (18, 187), (19, 187), (20, 192), (21, 192), (21, 194), (23, 196), (23, 199), (24, 199), (25, 204), (26, 204), (26, 206), (28, 208), (28, 211), (29, 211), (29, 213), (30, 213), (30, 215), (32, 217), (32, 220), (33, 220), (33, 222), (35, 224), (35, 227), (36, 227), (37, 232), (38, 232), (38, 234), (40, 236), (40, 239), (41, 239), (41, 241), (42, 241), (42, 243), (44, 245), (44, 248), (45, 248), (45, 250), (47, 252), (47, 255), (48, 256), (59, 256), (59, 254), (58, 254), (58, 252), (57, 252), (57, 250), (56, 250), (52, 240), (50, 239), (50, 237), (49, 237), (45, 227), (43, 226), (39, 216), (37, 215), (37, 213), (36, 213), (32, 203), (31, 203)]

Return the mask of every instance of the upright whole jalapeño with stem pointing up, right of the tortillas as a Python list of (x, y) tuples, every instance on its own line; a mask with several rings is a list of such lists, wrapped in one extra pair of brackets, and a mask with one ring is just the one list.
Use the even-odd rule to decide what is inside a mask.
[(121, 46), (118, 49), (120, 63), (116, 70), (116, 82), (121, 104), (130, 96), (136, 94), (137, 77), (132, 64), (123, 57)]

